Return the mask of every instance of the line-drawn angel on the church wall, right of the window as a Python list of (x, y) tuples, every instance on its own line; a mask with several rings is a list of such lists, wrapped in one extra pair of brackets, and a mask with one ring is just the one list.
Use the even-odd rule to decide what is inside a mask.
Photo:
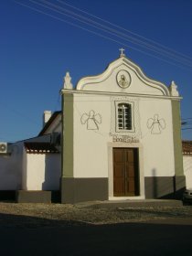
[(155, 114), (154, 118), (148, 119), (146, 125), (152, 134), (160, 134), (165, 129), (165, 120), (163, 118), (159, 119), (159, 115)]

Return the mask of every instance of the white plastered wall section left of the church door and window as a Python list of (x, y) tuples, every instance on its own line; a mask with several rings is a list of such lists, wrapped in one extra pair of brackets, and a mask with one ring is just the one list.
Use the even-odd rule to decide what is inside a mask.
[[(83, 114), (89, 115), (91, 111), (101, 115), (99, 130), (94, 130), (94, 123), (89, 124), (91, 120), (81, 123)], [(110, 113), (109, 97), (74, 95), (74, 177), (108, 177)]]

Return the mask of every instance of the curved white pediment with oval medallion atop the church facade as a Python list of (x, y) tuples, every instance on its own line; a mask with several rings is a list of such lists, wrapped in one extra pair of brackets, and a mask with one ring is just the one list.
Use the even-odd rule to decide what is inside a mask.
[(142, 69), (125, 57), (114, 60), (100, 75), (82, 78), (78, 82), (76, 90), (170, 95), (165, 84), (147, 78)]

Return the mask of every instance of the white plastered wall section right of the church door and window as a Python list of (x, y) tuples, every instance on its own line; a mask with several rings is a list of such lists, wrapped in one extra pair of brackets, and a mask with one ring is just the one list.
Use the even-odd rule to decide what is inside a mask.
[[(144, 148), (144, 176), (174, 176), (171, 101), (169, 99), (142, 98), (139, 105), (141, 143)], [(165, 124), (164, 129), (159, 123), (153, 124), (155, 114), (158, 114), (160, 123)], [(153, 130), (153, 128), (155, 129)]]

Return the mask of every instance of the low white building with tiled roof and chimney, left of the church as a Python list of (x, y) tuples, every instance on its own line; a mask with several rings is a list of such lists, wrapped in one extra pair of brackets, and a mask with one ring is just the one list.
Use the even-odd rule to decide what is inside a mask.
[[(44, 112), (37, 137), (5, 145), (0, 152), (0, 199), (17, 202), (58, 200), (60, 189), (61, 113)], [(1, 144), (1, 143), (0, 143)]]

